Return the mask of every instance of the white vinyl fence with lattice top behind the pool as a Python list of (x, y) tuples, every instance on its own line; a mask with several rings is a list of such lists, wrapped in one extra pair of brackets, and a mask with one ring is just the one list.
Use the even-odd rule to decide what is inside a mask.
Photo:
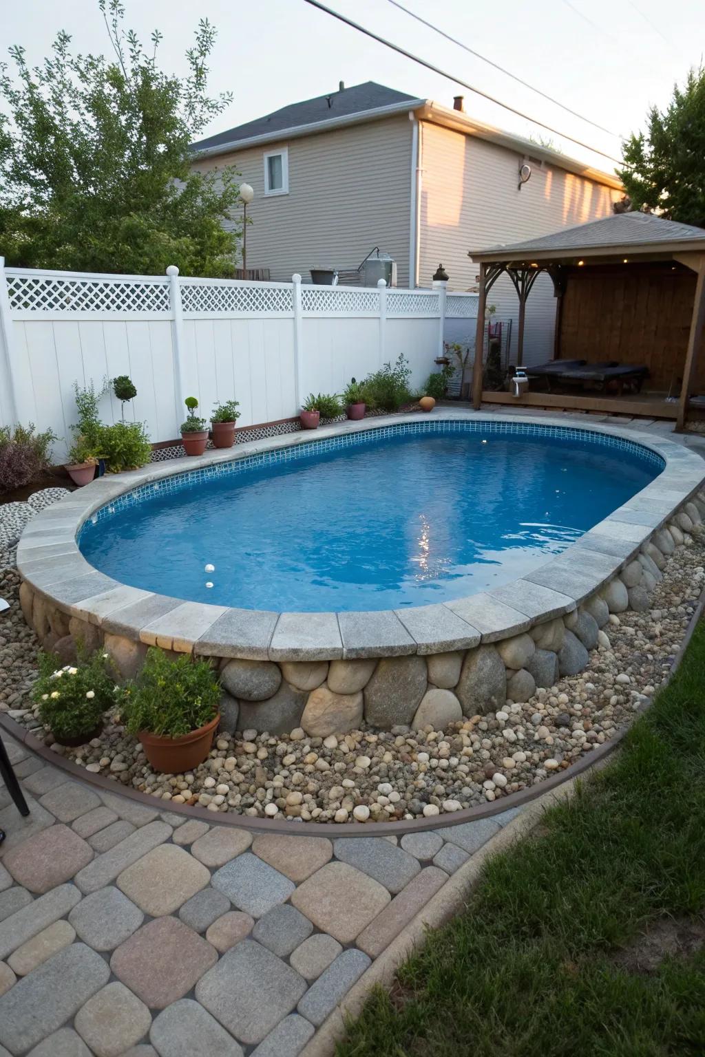
[[(340, 392), (400, 353), (421, 386), (452, 318), (477, 316), (477, 295), (384, 285), (302, 285), (4, 268), (0, 258), (0, 425), (35, 423), (69, 440), (73, 383), (129, 374), (131, 419), (152, 442), (179, 437), (184, 398), (208, 418), (240, 403), (239, 426), (298, 414), (310, 392)], [(471, 324), (474, 329), (474, 324)], [(105, 421), (120, 416), (105, 396)], [(55, 458), (66, 452), (63, 442)]]

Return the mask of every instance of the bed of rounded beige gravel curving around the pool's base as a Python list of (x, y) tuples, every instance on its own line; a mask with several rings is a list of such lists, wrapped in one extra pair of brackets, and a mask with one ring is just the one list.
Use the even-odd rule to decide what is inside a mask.
[[(33, 513), (55, 501), (48, 489), (27, 503), (0, 506), (0, 562), (11, 565), (13, 538)], [(7, 517), (10, 514), (10, 517)], [(13, 537), (15, 534), (15, 537)], [(705, 528), (692, 527), (665, 559), (650, 608), (611, 614), (587, 669), (539, 689), (526, 703), (451, 723), (444, 730), (374, 730), (312, 738), (303, 730), (270, 737), (219, 735), (192, 774), (154, 774), (117, 716), (99, 739), (77, 749), (53, 746), (88, 771), (163, 800), (214, 812), (346, 822), (397, 820), (456, 812), (506, 797), (570, 767), (613, 738), (658, 688), (705, 581)], [(24, 624), (19, 576), (0, 572), (0, 710), (51, 744), (26, 699), (37, 639)]]

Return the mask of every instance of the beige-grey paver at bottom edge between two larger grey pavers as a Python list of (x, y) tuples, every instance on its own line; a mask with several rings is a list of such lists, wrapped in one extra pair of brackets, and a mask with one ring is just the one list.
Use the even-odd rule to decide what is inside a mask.
[(117, 980), (89, 998), (76, 1014), (76, 1031), (95, 1057), (120, 1057), (147, 1034), (152, 1015)]

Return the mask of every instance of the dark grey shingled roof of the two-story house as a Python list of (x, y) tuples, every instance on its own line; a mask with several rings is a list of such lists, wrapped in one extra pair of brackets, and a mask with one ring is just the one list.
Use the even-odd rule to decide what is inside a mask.
[(350, 117), (366, 110), (393, 106), (395, 103), (416, 101), (419, 100), (414, 95), (406, 95), (393, 88), (386, 88), (384, 85), (368, 80), (364, 85), (353, 85), (351, 88), (344, 88), (342, 91), (319, 95), (315, 99), (292, 103), (287, 107), (282, 107), (281, 110), (265, 114), (264, 117), (256, 117), (255, 120), (247, 122), (245, 125), (238, 125), (234, 129), (219, 132), (206, 140), (199, 140), (198, 143), (191, 145), (191, 149), (194, 151), (206, 150), (209, 147), (238, 143), (240, 140), (249, 140), (253, 136), (276, 132), (284, 133), (289, 129), (301, 125), (317, 125), (319, 122), (328, 122), (332, 117)]

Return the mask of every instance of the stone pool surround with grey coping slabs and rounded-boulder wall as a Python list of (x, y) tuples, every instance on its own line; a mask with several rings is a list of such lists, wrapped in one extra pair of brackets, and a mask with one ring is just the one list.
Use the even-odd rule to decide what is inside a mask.
[[(437, 414), (483, 418), (445, 409)], [(550, 687), (585, 668), (610, 613), (648, 608), (664, 555), (705, 516), (699, 456), (665, 439), (581, 420), (581, 429), (657, 451), (666, 462), (663, 472), (535, 572), (445, 605), (337, 614), (226, 609), (120, 585), (93, 569), (77, 549), (84, 521), (138, 484), (386, 423), (381, 418), (345, 423), (290, 435), (286, 445), (270, 439), (150, 464), (73, 493), (35, 518), (20, 540), (25, 619), (47, 648), (59, 652), (70, 654), (78, 638), (89, 647), (103, 644), (124, 678), (138, 671), (148, 646), (212, 657), (223, 683), (223, 725), (230, 730), (283, 734), (301, 726), (327, 737), (354, 729), (363, 719), (387, 729), (442, 727), (463, 716), (497, 711), (507, 701), (524, 702), (537, 686)], [(541, 418), (540, 424), (578, 425), (564, 418)]]

